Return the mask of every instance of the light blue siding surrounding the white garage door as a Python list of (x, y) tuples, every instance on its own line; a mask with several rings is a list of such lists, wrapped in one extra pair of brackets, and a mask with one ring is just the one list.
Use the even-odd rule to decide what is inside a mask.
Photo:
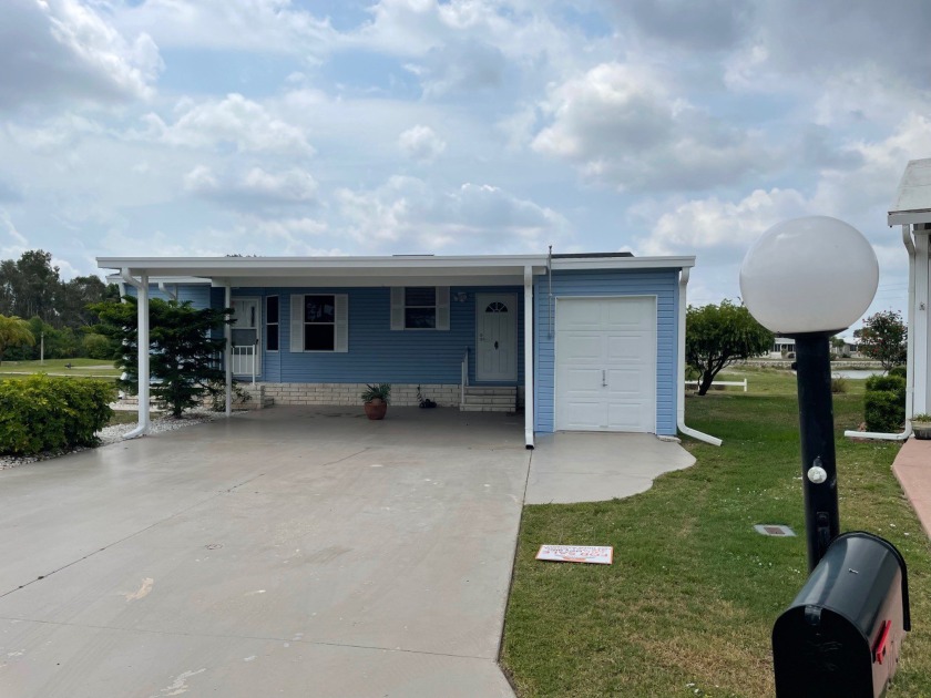
[(554, 271), (534, 280), (534, 429), (555, 428), (555, 299), (584, 296), (656, 297), (656, 433), (675, 435), (678, 348), (678, 269)]

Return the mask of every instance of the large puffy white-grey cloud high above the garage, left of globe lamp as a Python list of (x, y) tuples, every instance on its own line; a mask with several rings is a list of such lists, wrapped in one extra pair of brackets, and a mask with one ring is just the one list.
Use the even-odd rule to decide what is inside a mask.
[(532, 146), (573, 163), (586, 178), (628, 189), (703, 189), (774, 166), (744, 133), (669, 94), (655, 70), (602, 63), (553, 86), (550, 125)]

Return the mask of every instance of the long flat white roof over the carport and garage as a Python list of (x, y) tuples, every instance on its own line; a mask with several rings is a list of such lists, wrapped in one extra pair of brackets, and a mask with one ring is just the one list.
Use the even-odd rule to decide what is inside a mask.
[[(482, 286), (523, 284), (524, 271), (543, 274), (548, 255), (449, 256), (397, 255), (392, 257), (98, 257), (102, 269), (130, 276), (175, 277), (217, 286)], [(552, 268), (661, 269), (689, 268), (695, 257), (632, 257), (628, 253), (553, 255)]]

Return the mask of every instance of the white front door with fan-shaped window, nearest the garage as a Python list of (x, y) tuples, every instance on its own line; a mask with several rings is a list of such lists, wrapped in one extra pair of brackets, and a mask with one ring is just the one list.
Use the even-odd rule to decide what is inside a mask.
[(475, 380), (518, 380), (518, 297), (475, 295)]

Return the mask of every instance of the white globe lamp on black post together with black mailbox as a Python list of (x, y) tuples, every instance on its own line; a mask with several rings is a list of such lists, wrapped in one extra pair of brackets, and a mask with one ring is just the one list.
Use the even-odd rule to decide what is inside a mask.
[(838, 513), (828, 339), (867, 310), (878, 283), (870, 244), (827, 216), (771, 227), (740, 267), (750, 314), (796, 340), (810, 574), (773, 629), (777, 698), (884, 695), (911, 629), (899, 551), (869, 533), (840, 534)]

